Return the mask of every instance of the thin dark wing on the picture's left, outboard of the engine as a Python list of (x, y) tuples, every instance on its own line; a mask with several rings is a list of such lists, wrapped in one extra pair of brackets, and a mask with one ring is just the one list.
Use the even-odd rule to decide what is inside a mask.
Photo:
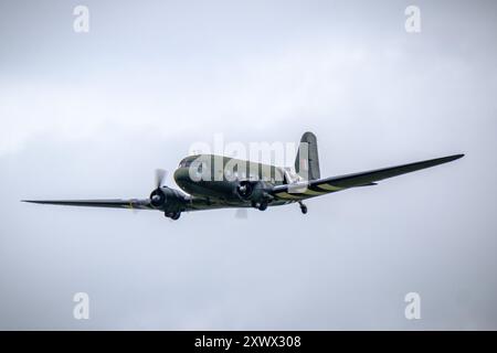
[(86, 207), (107, 207), (107, 208), (138, 208), (138, 210), (156, 210), (150, 200), (138, 199), (113, 199), (113, 200), (22, 200), (22, 202), (41, 203), (50, 205), (64, 206), (86, 206)]

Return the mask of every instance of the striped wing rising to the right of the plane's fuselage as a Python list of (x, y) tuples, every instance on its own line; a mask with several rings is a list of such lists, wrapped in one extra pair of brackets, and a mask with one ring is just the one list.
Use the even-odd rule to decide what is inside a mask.
[(273, 188), (272, 194), (281, 200), (298, 201), (349, 188), (376, 185), (377, 181), (452, 162), (462, 157), (464, 157), (464, 154), (454, 154), (421, 162), (376, 169), (367, 172), (310, 180), (298, 184), (278, 185)]

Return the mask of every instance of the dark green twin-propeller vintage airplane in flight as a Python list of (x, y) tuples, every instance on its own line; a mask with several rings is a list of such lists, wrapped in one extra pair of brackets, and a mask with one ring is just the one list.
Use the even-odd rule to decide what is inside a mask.
[[(304, 147), (304, 148), (303, 148)], [(251, 162), (218, 154), (195, 154), (182, 159), (173, 178), (176, 190), (165, 185), (166, 171), (156, 170), (156, 188), (148, 199), (113, 200), (22, 200), (22, 202), (112, 208), (160, 211), (178, 220), (182, 212), (254, 207), (298, 203), (307, 213), (307, 199), (359, 186), (377, 185), (379, 181), (447, 163), (464, 157), (453, 154), (366, 172), (320, 178), (317, 139), (305, 132), (295, 159), (295, 170)], [(231, 165), (231, 168), (228, 168)]]

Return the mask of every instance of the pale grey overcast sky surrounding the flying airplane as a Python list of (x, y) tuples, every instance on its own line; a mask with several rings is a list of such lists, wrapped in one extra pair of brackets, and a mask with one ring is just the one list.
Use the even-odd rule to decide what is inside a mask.
[[(410, 4), (0, 0), (0, 329), (497, 329), (497, 4), (416, 1), (406, 33)], [(147, 197), (195, 141), (307, 130), (322, 176), (466, 157), (307, 215), (19, 202)]]

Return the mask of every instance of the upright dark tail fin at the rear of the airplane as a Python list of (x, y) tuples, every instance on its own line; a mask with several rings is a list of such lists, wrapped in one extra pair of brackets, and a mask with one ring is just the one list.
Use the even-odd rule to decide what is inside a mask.
[(313, 132), (305, 132), (302, 136), (297, 158), (295, 159), (295, 171), (305, 180), (316, 180), (321, 176), (317, 139)]

